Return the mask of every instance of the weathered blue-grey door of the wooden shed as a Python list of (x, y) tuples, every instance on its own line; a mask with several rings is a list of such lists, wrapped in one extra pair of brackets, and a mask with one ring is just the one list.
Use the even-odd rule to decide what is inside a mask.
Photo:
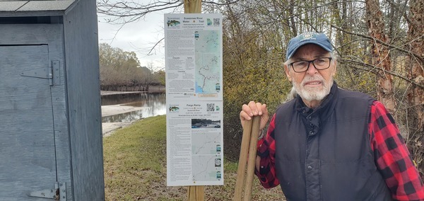
[(57, 181), (48, 51), (0, 46), (0, 200), (45, 200), (29, 194)]

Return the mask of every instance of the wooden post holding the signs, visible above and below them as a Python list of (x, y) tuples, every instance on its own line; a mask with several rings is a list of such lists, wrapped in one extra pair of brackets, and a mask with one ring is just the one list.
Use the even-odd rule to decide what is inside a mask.
[[(184, 0), (184, 13), (201, 13), (201, 0)], [(205, 200), (203, 185), (190, 185), (187, 190), (189, 201)]]

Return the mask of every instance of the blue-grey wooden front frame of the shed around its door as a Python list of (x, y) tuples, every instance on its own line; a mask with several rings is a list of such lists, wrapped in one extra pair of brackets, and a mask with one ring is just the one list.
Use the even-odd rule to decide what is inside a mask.
[[(63, 25), (61, 24), (2, 24), (0, 45), (47, 44), (49, 61), (59, 61), (59, 83), (51, 86), (56, 147), (57, 180), (66, 182), (66, 198), (73, 200), (71, 186), (71, 156), (69, 144), (68, 115), (66, 110), (66, 85), (64, 74)], [(28, 125), (25, 125), (28, 126)], [(50, 126), (50, 125), (46, 125)], [(54, 184), (52, 184), (52, 188)], [(34, 189), (39, 190), (39, 189)]]

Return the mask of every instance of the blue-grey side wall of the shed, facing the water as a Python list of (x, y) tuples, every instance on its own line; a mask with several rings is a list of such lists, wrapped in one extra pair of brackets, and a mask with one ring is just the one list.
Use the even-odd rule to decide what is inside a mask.
[(64, 16), (73, 200), (105, 200), (96, 1)]

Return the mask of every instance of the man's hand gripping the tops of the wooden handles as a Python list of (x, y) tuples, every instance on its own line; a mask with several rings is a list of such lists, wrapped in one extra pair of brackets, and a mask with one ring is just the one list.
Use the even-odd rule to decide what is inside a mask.
[(249, 104), (244, 104), (242, 106), (242, 111), (240, 112), (240, 122), (242, 123), (243, 129), (245, 128), (245, 122), (252, 120), (252, 117), (256, 115), (261, 116), (259, 130), (263, 130), (269, 120), (266, 104), (254, 103), (254, 101), (250, 101)]

